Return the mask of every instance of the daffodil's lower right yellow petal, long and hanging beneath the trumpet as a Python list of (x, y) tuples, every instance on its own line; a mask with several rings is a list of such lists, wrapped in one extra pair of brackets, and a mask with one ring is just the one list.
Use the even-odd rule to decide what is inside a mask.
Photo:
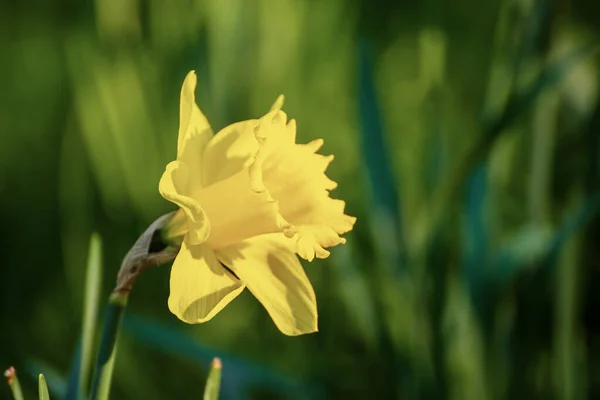
[(217, 251), (265, 307), (279, 330), (295, 336), (316, 332), (315, 293), (291, 239), (282, 233), (261, 235)]

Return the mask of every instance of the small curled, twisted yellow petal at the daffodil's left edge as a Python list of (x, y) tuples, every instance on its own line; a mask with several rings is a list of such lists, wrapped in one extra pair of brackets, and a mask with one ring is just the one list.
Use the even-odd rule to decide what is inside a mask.
[(210, 234), (210, 221), (200, 204), (190, 197), (190, 171), (181, 161), (172, 161), (160, 178), (158, 190), (167, 200), (177, 204), (187, 216), (188, 232), (186, 240), (201, 244)]

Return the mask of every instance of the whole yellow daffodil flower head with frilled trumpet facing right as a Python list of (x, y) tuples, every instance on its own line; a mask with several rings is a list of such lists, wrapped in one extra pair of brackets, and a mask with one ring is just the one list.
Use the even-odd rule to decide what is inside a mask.
[(283, 96), (264, 117), (213, 135), (195, 89), (191, 71), (181, 89), (177, 160), (159, 184), (180, 207), (172, 225), (185, 235), (169, 309), (184, 322), (205, 322), (248, 287), (284, 334), (316, 332), (315, 294), (296, 254), (326, 258), (356, 220), (329, 197), (333, 156), (316, 153), (321, 139), (296, 144)]

